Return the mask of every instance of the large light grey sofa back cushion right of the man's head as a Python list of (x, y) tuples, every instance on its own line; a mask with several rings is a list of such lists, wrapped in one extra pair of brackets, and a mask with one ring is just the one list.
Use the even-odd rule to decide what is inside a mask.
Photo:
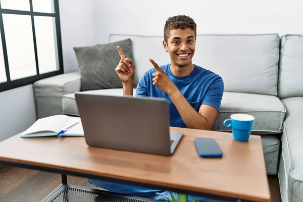
[(224, 89), (277, 95), (278, 34), (197, 36), (193, 62), (219, 74)]

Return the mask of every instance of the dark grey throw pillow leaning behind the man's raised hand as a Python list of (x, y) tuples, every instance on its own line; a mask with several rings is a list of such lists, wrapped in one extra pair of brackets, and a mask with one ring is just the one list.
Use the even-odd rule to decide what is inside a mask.
[[(108, 44), (74, 47), (81, 74), (81, 91), (122, 88), (122, 81), (115, 71), (121, 60), (118, 45), (125, 57), (133, 60), (130, 38)], [(135, 79), (134, 86), (136, 85)]]

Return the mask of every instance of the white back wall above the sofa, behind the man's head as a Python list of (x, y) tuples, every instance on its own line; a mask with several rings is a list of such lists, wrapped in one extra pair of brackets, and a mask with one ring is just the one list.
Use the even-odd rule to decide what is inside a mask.
[(95, 42), (110, 33), (163, 35), (168, 17), (188, 15), (197, 33), (303, 33), (300, 0), (93, 1)]

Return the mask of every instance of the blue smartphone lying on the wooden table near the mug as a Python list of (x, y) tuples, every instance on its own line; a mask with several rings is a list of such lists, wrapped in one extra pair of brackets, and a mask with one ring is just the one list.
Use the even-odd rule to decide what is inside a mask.
[(194, 144), (200, 157), (221, 158), (222, 150), (214, 138), (195, 138)]

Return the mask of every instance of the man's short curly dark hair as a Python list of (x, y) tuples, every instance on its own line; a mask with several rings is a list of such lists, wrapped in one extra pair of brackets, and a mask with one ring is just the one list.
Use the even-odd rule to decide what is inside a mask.
[(164, 40), (167, 42), (167, 39), (169, 37), (169, 32), (173, 29), (185, 29), (190, 28), (194, 31), (194, 37), (197, 35), (197, 25), (193, 21), (192, 18), (185, 16), (185, 15), (179, 15), (179, 16), (173, 16), (169, 17), (164, 25)]

